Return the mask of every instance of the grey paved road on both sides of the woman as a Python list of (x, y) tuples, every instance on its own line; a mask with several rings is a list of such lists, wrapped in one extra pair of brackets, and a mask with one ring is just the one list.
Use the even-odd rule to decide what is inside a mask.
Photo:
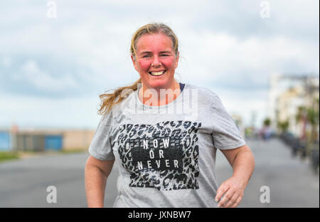
[[(291, 157), (289, 147), (277, 139), (248, 141), (255, 154), (255, 171), (239, 207), (318, 207), (319, 174), (309, 162)], [(0, 207), (86, 207), (84, 168), (88, 154), (47, 154), (0, 163)], [(117, 169), (107, 181), (105, 206), (112, 207), (117, 196)], [(221, 152), (216, 174), (221, 183), (232, 169)], [(55, 186), (57, 203), (48, 203), (48, 186)], [(261, 187), (270, 189), (270, 201)]]

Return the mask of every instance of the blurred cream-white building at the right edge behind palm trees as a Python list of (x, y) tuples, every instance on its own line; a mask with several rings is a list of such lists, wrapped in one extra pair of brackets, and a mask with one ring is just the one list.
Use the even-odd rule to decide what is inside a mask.
[(316, 109), (316, 100), (319, 101), (319, 76), (273, 74), (270, 78), (268, 104), (272, 128), (277, 129), (279, 122), (288, 122), (288, 131), (301, 137), (302, 131), (308, 126), (297, 120), (299, 107)]

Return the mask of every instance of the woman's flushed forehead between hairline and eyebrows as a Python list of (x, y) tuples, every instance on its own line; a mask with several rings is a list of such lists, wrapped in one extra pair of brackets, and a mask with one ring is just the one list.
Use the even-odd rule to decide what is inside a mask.
[(145, 34), (137, 41), (137, 51), (173, 51), (172, 40), (163, 33)]

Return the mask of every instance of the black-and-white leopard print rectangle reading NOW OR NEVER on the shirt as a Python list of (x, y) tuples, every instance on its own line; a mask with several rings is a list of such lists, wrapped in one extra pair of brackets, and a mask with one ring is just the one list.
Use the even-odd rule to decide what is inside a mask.
[(167, 121), (121, 125), (115, 139), (132, 187), (198, 189), (198, 137), (201, 122)]

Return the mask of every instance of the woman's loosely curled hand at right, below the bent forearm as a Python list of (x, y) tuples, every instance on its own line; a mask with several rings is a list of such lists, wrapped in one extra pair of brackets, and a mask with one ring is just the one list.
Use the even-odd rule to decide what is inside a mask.
[[(215, 196), (218, 207), (237, 207), (245, 193), (245, 182), (235, 176), (230, 177), (220, 185)], [(223, 196), (224, 194), (224, 196)], [(221, 197), (223, 198), (221, 199)]]

